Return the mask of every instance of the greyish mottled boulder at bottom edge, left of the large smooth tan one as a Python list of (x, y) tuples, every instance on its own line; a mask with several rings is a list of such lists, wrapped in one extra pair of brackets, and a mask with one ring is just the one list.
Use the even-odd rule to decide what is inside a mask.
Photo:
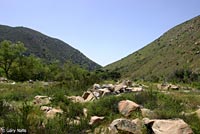
[(114, 120), (109, 126), (111, 134), (117, 134), (118, 131), (142, 134), (141, 128), (142, 122), (139, 119), (128, 120), (123, 118)]

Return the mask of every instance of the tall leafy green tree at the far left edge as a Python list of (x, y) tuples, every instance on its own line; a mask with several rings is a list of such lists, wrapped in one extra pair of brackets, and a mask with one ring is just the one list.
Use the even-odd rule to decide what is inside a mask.
[(24, 44), (21, 42), (12, 43), (4, 40), (0, 43), (0, 68), (3, 69), (7, 78), (14, 61), (23, 55), (26, 51)]

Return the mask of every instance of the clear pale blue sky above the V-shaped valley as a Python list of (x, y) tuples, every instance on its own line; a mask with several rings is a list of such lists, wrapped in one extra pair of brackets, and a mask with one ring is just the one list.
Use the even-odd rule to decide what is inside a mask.
[(107, 65), (200, 15), (200, 0), (0, 0), (0, 24), (65, 41)]

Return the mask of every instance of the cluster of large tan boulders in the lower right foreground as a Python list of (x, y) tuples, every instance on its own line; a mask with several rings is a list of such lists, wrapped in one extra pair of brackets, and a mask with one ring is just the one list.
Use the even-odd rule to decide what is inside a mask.
[[(142, 106), (132, 102), (130, 100), (120, 101), (118, 104), (119, 112), (128, 117), (132, 112), (135, 112), (137, 109), (142, 113), (143, 119), (126, 119), (119, 118), (114, 120), (108, 127), (110, 134), (117, 134), (119, 132), (133, 133), (133, 134), (142, 134), (144, 127), (149, 133), (153, 134), (193, 134), (192, 129), (186, 124), (182, 119), (148, 119), (146, 117), (153, 117), (153, 111), (142, 108)], [(198, 114), (197, 112), (195, 112)]]

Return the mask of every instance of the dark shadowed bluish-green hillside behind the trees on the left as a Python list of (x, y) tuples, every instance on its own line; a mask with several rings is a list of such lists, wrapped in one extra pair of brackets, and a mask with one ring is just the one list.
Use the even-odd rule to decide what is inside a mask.
[(28, 54), (34, 54), (48, 62), (59, 60), (64, 63), (71, 60), (89, 70), (100, 67), (67, 43), (29, 28), (0, 25), (0, 41), (2, 40), (21, 41), (28, 48)]

